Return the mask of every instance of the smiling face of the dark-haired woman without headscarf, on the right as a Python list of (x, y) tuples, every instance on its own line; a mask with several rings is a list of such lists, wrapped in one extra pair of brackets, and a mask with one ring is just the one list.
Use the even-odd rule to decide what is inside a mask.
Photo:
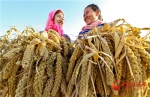
[(84, 21), (87, 25), (92, 24), (95, 20), (98, 19), (99, 13), (91, 9), (91, 7), (87, 7), (84, 10)]

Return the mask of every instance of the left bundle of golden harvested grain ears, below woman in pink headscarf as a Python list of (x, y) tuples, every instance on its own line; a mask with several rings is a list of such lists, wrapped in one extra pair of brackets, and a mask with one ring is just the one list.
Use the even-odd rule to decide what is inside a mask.
[[(12, 31), (17, 32), (9, 39)], [(49, 38), (50, 39), (49, 39)], [(11, 28), (0, 39), (2, 97), (57, 97), (66, 93), (70, 43), (56, 31), (22, 33)]]

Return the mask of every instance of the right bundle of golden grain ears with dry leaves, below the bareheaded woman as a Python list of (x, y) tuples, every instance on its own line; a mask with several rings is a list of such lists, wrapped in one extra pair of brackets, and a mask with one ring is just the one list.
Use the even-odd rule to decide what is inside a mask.
[(72, 46), (65, 97), (149, 97), (150, 33), (118, 19), (95, 27)]

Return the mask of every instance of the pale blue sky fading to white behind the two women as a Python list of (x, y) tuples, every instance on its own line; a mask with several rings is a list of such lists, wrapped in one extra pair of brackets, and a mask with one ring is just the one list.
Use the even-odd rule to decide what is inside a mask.
[(49, 12), (60, 8), (65, 14), (64, 32), (74, 40), (85, 25), (83, 10), (91, 3), (100, 7), (104, 22), (125, 18), (133, 26), (150, 27), (149, 0), (1, 0), (0, 36), (10, 26), (44, 30)]

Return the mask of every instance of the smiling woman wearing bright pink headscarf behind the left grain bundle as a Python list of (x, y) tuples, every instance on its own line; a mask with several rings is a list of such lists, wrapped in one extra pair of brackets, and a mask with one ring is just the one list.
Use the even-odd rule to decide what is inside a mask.
[(64, 25), (64, 13), (61, 9), (53, 10), (49, 13), (48, 20), (46, 23), (45, 30), (48, 31), (49, 29), (53, 29), (58, 32), (59, 36), (64, 36), (66, 39), (70, 40), (70, 37), (63, 32)]

